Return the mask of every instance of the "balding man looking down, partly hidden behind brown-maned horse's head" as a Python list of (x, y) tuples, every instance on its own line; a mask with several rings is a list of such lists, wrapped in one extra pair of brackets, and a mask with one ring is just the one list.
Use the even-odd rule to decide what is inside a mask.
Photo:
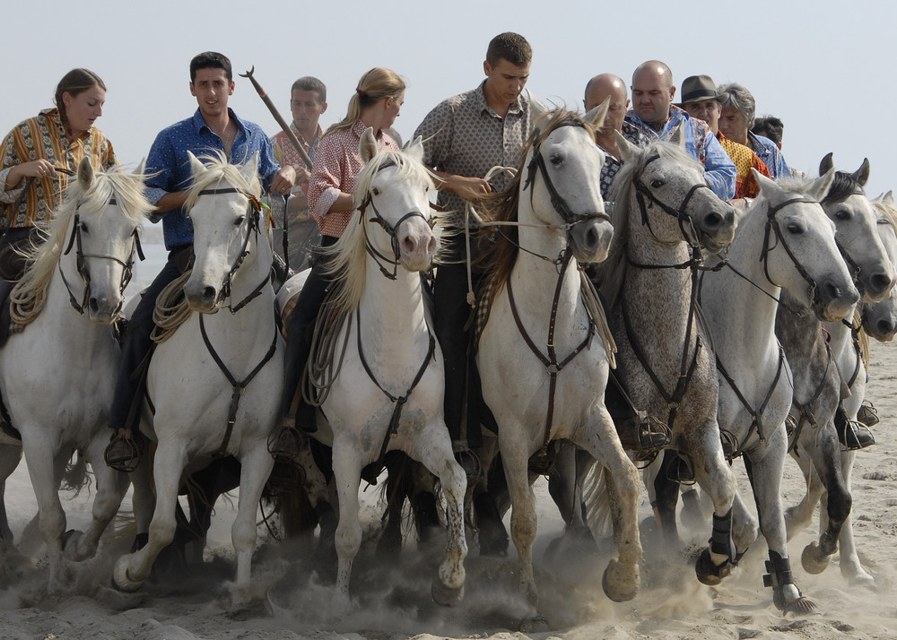
[(610, 193), (614, 176), (623, 167), (614, 131), (623, 134), (629, 142), (640, 147), (649, 143), (645, 134), (625, 121), (626, 109), (629, 108), (629, 93), (626, 91), (626, 82), (623, 82), (623, 78), (614, 74), (598, 74), (588, 81), (586, 94), (582, 100), (586, 111), (596, 108), (605, 101), (605, 98), (610, 99), (605, 124), (595, 135), (598, 146), (605, 151), (605, 164), (601, 168), (601, 196), (604, 198)]

